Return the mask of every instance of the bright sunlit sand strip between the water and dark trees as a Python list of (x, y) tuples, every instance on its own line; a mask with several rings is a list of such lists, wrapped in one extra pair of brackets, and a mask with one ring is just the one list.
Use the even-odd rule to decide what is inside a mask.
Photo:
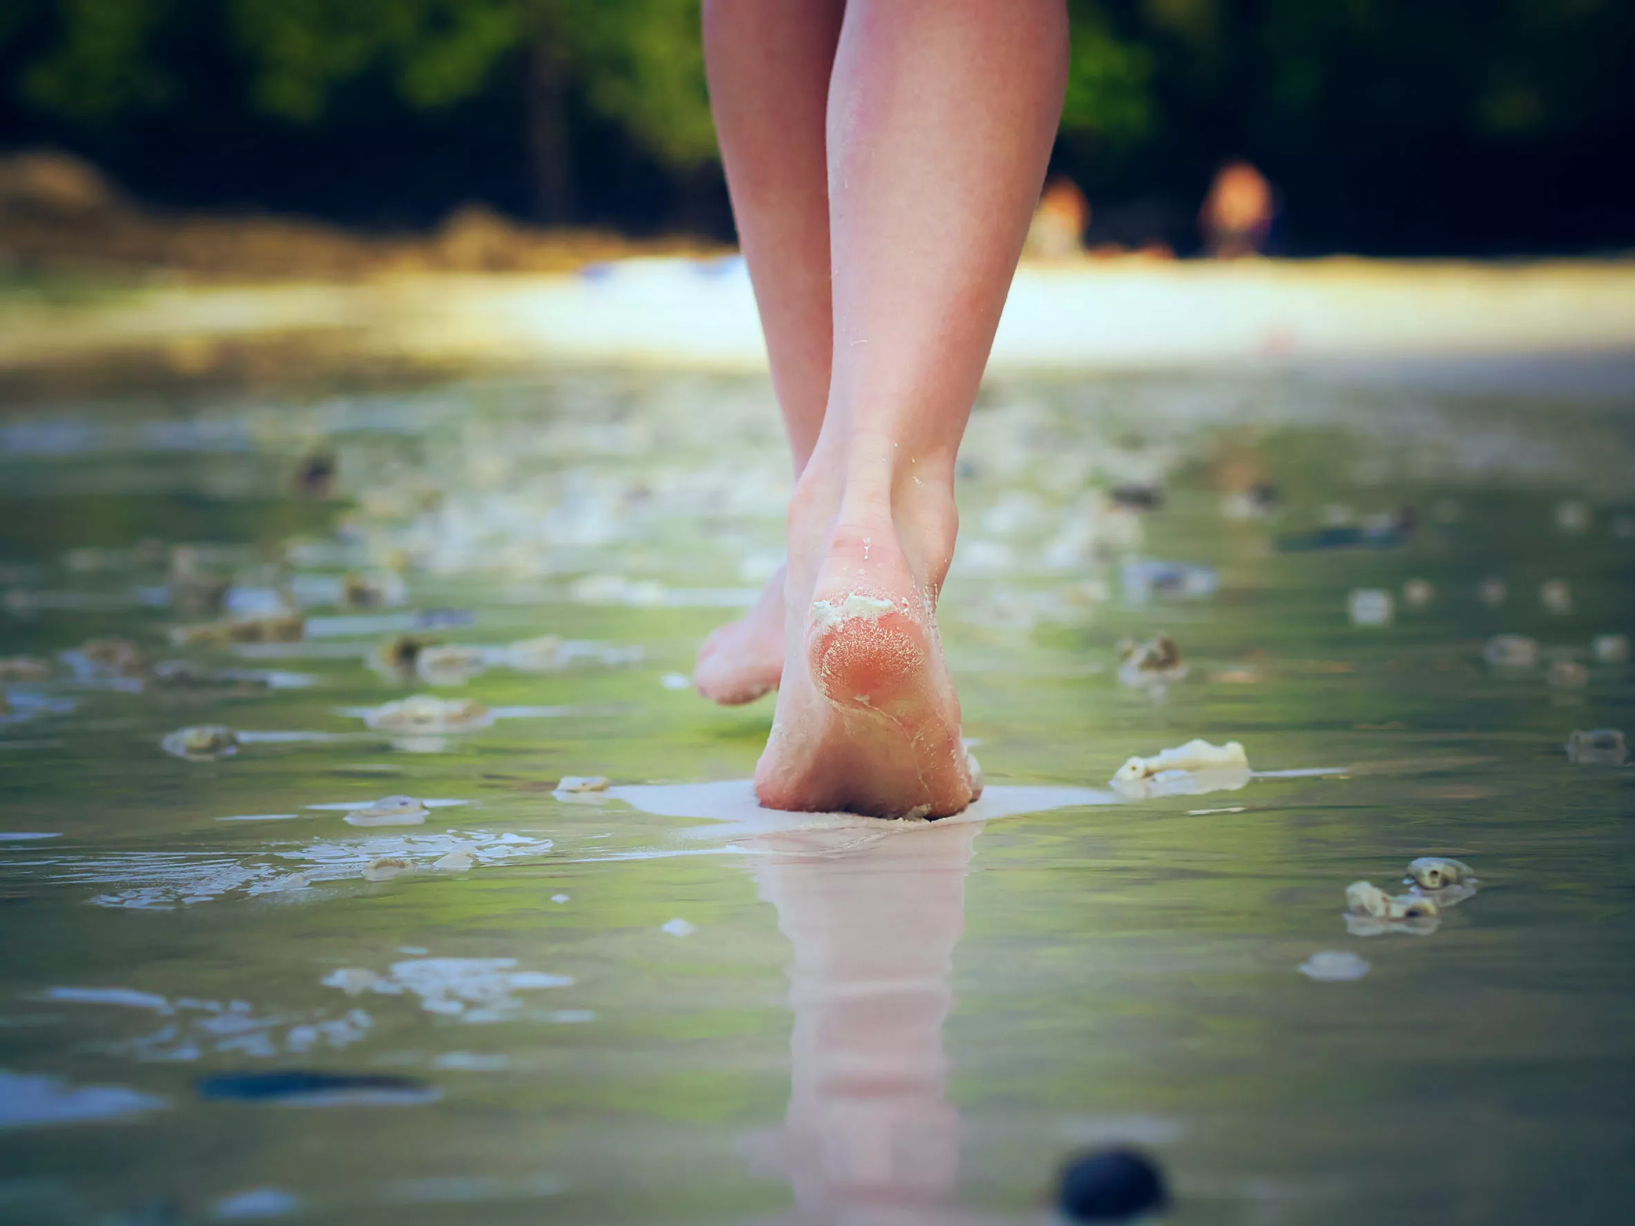
[[(741, 268), (626, 260), (585, 276), (152, 288), (93, 304), (0, 301), (0, 369), (178, 342), (296, 338), (383, 360), (764, 369)], [(996, 371), (1635, 347), (1635, 263), (1241, 260), (1024, 266)]]

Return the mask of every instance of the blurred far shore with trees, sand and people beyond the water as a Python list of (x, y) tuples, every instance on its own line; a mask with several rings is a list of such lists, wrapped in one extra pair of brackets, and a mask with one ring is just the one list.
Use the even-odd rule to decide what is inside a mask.
[[(996, 369), (1635, 337), (1627, 5), (1071, 8)], [(697, 3), (0, 15), (0, 379), (605, 363), (764, 365)]]

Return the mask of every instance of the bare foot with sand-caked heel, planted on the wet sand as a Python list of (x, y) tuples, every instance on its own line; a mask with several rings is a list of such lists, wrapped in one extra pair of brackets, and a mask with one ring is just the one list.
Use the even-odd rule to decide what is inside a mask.
[(790, 508), (783, 682), (755, 794), (772, 809), (947, 817), (979, 791), (937, 636), (952, 489), (826, 490)]

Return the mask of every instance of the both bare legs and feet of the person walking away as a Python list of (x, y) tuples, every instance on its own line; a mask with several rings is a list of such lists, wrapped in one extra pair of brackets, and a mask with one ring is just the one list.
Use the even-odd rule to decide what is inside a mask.
[(700, 652), (778, 687), (755, 793), (942, 817), (981, 790), (937, 634), (953, 466), (1040, 198), (1063, 0), (708, 0), (710, 96), (796, 471), (788, 566)]

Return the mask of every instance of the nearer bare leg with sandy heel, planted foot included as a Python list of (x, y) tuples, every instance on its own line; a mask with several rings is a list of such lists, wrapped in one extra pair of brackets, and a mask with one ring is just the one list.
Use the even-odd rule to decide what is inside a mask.
[(953, 463), (1061, 113), (1063, 0), (850, 0), (829, 87), (834, 371), (790, 505), (762, 803), (973, 798), (935, 606)]

